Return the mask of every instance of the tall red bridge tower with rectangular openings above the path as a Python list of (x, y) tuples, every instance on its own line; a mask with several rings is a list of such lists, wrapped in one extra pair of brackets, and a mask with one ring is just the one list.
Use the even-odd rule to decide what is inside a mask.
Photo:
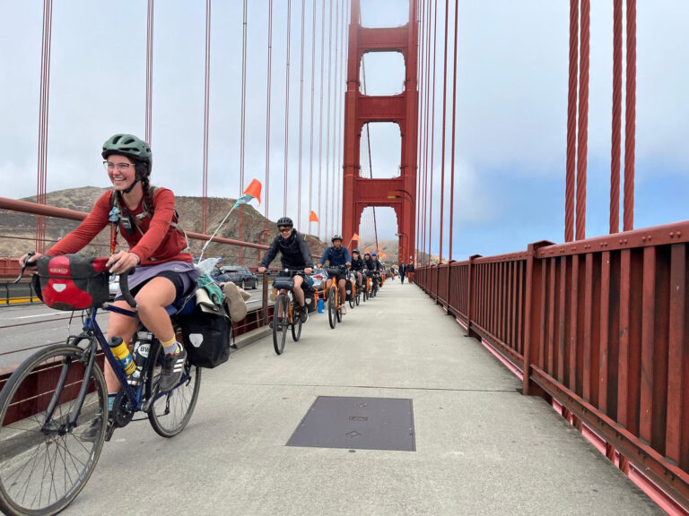
[[(391, 206), (397, 214), (398, 256), (414, 254), (416, 205), (416, 133), (418, 87), (416, 81), (416, 0), (409, 0), (409, 22), (402, 27), (364, 28), (359, 24), (360, 0), (352, 0), (345, 96), (345, 157), (342, 231), (345, 243), (359, 232), (363, 209)], [(399, 95), (369, 96), (359, 91), (359, 69), (367, 52), (399, 52), (405, 58), (405, 90)], [(362, 127), (369, 122), (393, 122), (402, 138), (400, 175), (390, 179), (360, 176)], [(356, 245), (351, 242), (350, 247)]]

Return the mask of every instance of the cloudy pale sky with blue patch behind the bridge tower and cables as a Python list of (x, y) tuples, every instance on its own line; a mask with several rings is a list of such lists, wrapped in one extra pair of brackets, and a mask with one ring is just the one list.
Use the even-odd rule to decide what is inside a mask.
[[(315, 107), (311, 125), (313, 0), (305, 0), (301, 229), (308, 230), (305, 221), (311, 207), (323, 221), (321, 236), (329, 236), (331, 231), (339, 231), (339, 220), (337, 215), (325, 213), (323, 199), (318, 208), (318, 170), (323, 171), (321, 192), (325, 196), (326, 176), (331, 188), (342, 161), (341, 116), (346, 86), (341, 56), (346, 54), (341, 48), (343, 39), (336, 37), (340, 33), (335, 29), (332, 47), (328, 47), (329, 8), (323, 23), (323, 0), (315, 3)], [(54, 3), (48, 191), (84, 185), (108, 186), (108, 177), (100, 165), (102, 142), (113, 133), (144, 135), (146, 4), (144, 0), (121, 0), (104, 13), (100, 3), (88, 0)], [(248, 4), (244, 185), (254, 177), (264, 183), (264, 204), (257, 207), (263, 212), (266, 156), (269, 157), (268, 216), (277, 219), (285, 210), (286, 160), (286, 211), (296, 221), (301, 2), (291, 3), (287, 102), (288, 2), (274, 1), (269, 153), (266, 153), (268, 2), (250, 0)], [(605, 235), (609, 231), (612, 4), (612, 0), (595, 0), (591, 5), (587, 236)], [(336, 25), (337, 6), (340, 6), (341, 19), (344, 4), (332, 2), (332, 5)], [(366, 26), (404, 24), (407, 5), (397, 0), (362, 0), (362, 23)], [(438, 2), (435, 123), (429, 138), (433, 157), (432, 253), (439, 250), (444, 5), (441, 0)], [(40, 0), (0, 0), (0, 69), (3, 70), (0, 196), (3, 197), (22, 198), (35, 195), (37, 190), (42, 9)], [(637, 3), (637, 10), (634, 227), (644, 228), (688, 218), (685, 192), (689, 191), (689, 102), (685, 92), (689, 90), (689, 32), (684, 24), (689, 19), (689, 2), (645, 1)], [(452, 5), (449, 21), (451, 42), (454, 38)], [(208, 176), (209, 194), (213, 196), (235, 198), (240, 194), (242, 26), (239, 0), (212, 3)], [(321, 88), (324, 34), (325, 70)], [(346, 40), (346, 32), (344, 36)], [(328, 55), (332, 56), (330, 81)], [(569, 2), (566, 0), (459, 0), (454, 259), (463, 260), (472, 254), (516, 252), (539, 240), (563, 241), (568, 56)], [(451, 43), (448, 61), (451, 78)], [(399, 54), (366, 55), (363, 67), (368, 94), (401, 91), (404, 61)], [(157, 2), (153, 42), (153, 183), (168, 186), (178, 194), (202, 193), (204, 79), (205, 2)], [(449, 82), (445, 258), (449, 245), (451, 86)], [(332, 96), (331, 108), (327, 103), (328, 91)], [(288, 127), (286, 146), (285, 125)], [(373, 176), (396, 175), (400, 152), (397, 127), (374, 124), (370, 129)], [(362, 156), (362, 174), (369, 174), (365, 145), (362, 152), (366, 152)], [(310, 170), (314, 178), (311, 203)], [(328, 194), (332, 197), (332, 190)], [(371, 211), (365, 211), (361, 222), (364, 237), (372, 233)], [(394, 211), (377, 209), (376, 219), (379, 237), (394, 238), (397, 232)], [(315, 227), (312, 229), (316, 231)]]

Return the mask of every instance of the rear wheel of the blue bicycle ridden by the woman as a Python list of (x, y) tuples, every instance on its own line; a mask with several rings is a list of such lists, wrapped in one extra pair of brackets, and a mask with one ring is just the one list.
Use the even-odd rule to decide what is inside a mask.
[(179, 385), (172, 391), (160, 394), (158, 383), (164, 357), (160, 342), (156, 341), (149, 352), (151, 356), (146, 377), (146, 399), (150, 400), (154, 396), (155, 400), (148, 409), (148, 420), (156, 434), (173, 437), (184, 430), (194, 413), (201, 388), (201, 368), (189, 364), (187, 358)]

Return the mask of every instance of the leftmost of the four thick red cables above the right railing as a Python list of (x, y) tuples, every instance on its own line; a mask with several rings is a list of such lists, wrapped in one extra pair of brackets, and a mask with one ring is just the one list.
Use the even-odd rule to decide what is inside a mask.
[(579, 3), (570, 0), (570, 78), (567, 95), (567, 163), (564, 192), (564, 241), (574, 239), (574, 170), (577, 152), (577, 70), (579, 68)]

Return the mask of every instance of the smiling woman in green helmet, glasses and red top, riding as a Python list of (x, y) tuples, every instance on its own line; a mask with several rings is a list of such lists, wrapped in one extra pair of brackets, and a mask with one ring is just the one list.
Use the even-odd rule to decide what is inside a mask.
[[(102, 157), (112, 190), (103, 193), (79, 227), (46, 254), (76, 253), (110, 222), (116, 224), (129, 249), (112, 254), (107, 265), (116, 274), (135, 268), (128, 285), (136, 300), (138, 319), (161, 341), (165, 351), (160, 389), (169, 391), (181, 378), (187, 352), (175, 338), (165, 307), (196, 288), (198, 272), (188, 251), (187, 237), (177, 226), (174, 193), (149, 183), (153, 155), (148, 143), (131, 134), (115, 134), (103, 144)], [(26, 257), (22, 256), (22, 264)], [(31, 262), (37, 258), (35, 255)], [(119, 293), (113, 305), (129, 308)], [(130, 344), (137, 326), (135, 317), (111, 313), (108, 335)], [(105, 380), (112, 409), (120, 385), (108, 361)]]

